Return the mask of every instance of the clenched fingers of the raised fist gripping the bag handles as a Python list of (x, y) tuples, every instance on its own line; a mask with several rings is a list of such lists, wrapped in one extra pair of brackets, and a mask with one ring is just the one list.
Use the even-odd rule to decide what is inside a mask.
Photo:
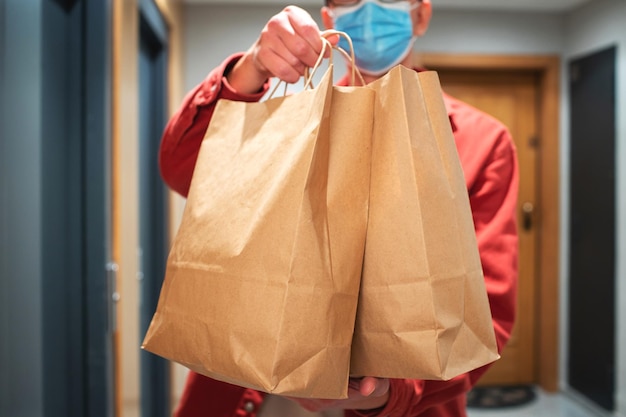
[(313, 18), (288, 6), (272, 17), (252, 48), (260, 72), (293, 83), (317, 62), (323, 43)]

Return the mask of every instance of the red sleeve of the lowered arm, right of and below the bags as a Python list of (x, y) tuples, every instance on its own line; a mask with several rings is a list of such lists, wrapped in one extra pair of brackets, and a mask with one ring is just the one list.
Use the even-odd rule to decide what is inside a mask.
[[(482, 116), (478, 116), (481, 119)], [(464, 125), (469, 128), (455, 131), (455, 138), (465, 171), (498, 351), (501, 352), (511, 336), (517, 306), (517, 155), (508, 131), (500, 124), (491, 120), (486, 123), (471, 120)], [(489, 366), (450, 381), (391, 380), (389, 402), (383, 410), (375, 413), (352, 411), (347, 415), (464, 415), (458, 414), (465, 408), (463, 394)]]

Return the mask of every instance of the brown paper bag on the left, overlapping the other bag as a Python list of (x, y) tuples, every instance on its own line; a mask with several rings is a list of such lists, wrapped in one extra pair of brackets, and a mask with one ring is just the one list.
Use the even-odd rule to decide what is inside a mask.
[(332, 87), (330, 66), (316, 88), (217, 104), (144, 349), (265, 392), (347, 396), (373, 100)]

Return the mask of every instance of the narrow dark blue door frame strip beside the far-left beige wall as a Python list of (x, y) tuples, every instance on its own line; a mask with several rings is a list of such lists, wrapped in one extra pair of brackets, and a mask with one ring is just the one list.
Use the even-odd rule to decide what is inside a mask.
[(84, 216), (88, 415), (115, 415), (115, 287), (112, 257), (111, 0), (84, 3)]

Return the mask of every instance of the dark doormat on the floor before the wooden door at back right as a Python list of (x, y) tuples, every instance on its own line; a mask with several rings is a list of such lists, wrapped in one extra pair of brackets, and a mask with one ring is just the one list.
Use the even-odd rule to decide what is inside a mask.
[(468, 408), (507, 408), (526, 405), (536, 398), (530, 385), (475, 387), (467, 394)]

